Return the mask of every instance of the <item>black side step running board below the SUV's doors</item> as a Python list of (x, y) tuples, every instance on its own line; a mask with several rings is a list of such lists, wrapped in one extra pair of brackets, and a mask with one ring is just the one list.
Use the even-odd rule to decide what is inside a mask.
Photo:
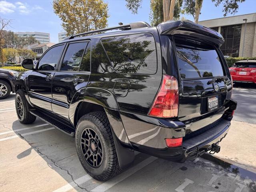
[(31, 109), (29, 112), (34, 116), (38, 117), (39, 119), (43, 120), (44, 122), (52, 125), (54, 128), (68, 134), (69, 136), (72, 136), (72, 137), (75, 136), (74, 129), (72, 129), (70, 126), (67, 126), (58, 120), (53, 120), (46, 113), (43, 113), (40, 110), (36, 110), (36, 109)]

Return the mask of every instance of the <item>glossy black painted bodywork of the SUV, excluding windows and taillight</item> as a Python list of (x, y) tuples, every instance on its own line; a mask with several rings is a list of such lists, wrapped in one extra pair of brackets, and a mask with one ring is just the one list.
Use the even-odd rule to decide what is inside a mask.
[[(116, 72), (102, 46), (101, 39), (142, 33), (152, 34), (154, 37), (157, 56), (156, 73)], [(212, 77), (183, 80), (180, 77), (176, 56), (176, 36), (213, 44), (227, 78), (216, 80), (213, 84), (207, 84)], [(103, 108), (110, 121), (115, 144), (119, 148), (118, 158), (123, 163), (123, 167), (132, 162), (132, 158), (126, 157), (127, 154), (132, 156), (130, 151), (127, 151), (127, 154), (120, 151), (124, 148), (183, 162), (186, 158), (201, 155), (198, 153), (200, 150), (209, 150), (212, 143), (219, 142), (226, 135), (232, 119), (230, 108), (236, 106), (236, 103), (231, 100), (231, 78), (218, 48), (223, 43), (220, 34), (196, 24), (173, 21), (160, 24), (158, 27), (122, 30), (66, 40), (61, 43), (65, 45), (64, 52), (67, 44), (74, 41), (90, 41), (90, 72), (60, 71), (60, 63), (64, 56), (62, 54), (54, 71), (33, 70), (24, 73), (18, 78), (18, 84), (24, 81), (34, 108), (47, 109), (53, 114), (53, 118), (58, 117), (73, 129), (78, 120), (77, 115), (83, 111), (81, 106), (87, 106), (84, 103), (101, 107), (97, 109)], [(180, 94), (178, 118), (161, 119), (148, 116), (163, 74), (172, 75), (178, 80)], [(76, 78), (82, 81), (78, 82)], [(214, 90), (214, 84), (220, 87), (218, 92)], [(220, 108), (208, 112), (207, 98), (213, 95), (218, 95)], [(202, 142), (200, 147), (197, 145), (192, 148), (166, 147), (166, 138), (185, 137), (220, 118), (228, 121), (220, 128), (222, 129), (220, 134), (212, 134), (211, 139)], [(126, 158), (129, 160), (125, 161)]]

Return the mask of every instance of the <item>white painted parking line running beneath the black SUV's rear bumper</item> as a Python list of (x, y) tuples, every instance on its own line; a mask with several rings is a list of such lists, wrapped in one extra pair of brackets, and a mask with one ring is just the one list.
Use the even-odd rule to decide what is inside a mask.
[(131, 176), (132, 174), (134, 174), (138, 170), (144, 168), (148, 164), (152, 163), (156, 159), (157, 159), (157, 157), (150, 156), (149, 158), (147, 158), (144, 161), (140, 162), (136, 166), (128, 169), (125, 172), (122, 172), (118, 176), (116, 176), (116, 177), (114, 177), (114, 178), (112, 178), (112, 179), (102, 183), (101, 185), (97, 186), (96, 188), (92, 189), (91, 192), (105, 192), (106, 190), (108, 190), (112, 186), (114, 186), (114, 185), (118, 184), (119, 182), (121, 182), (122, 180), (128, 178), (129, 176)]

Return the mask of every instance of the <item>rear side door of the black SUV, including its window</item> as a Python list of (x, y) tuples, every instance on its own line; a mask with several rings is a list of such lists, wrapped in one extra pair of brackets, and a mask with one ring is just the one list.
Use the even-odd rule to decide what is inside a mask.
[(83, 97), (90, 76), (90, 42), (70, 42), (52, 80), (52, 111), (69, 120), (72, 103)]

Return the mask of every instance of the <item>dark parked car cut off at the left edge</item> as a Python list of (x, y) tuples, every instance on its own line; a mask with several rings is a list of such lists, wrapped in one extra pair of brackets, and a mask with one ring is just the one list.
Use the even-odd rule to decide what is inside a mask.
[(4, 99), (15, 92), (15, 81), (19, 72), (0, 68), (0, 99)]

